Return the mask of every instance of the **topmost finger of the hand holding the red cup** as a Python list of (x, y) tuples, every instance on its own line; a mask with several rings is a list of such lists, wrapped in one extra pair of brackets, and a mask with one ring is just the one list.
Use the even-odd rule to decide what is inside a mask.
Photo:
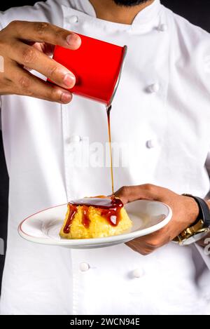
[(46, 42), (72, 50), (81, 44), (80, 36), (48, 22), (26, 22), (14, 20), (8, 25), (13, 30), (13, 36), (20, 40)]

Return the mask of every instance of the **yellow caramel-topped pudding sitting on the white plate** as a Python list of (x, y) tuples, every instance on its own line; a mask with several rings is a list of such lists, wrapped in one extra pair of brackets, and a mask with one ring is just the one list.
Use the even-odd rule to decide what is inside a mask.
[(122, 234), (132, 227), (123, 202), (97, 196), (68, 203), (59, 235), (64, 239), (92, 239)]

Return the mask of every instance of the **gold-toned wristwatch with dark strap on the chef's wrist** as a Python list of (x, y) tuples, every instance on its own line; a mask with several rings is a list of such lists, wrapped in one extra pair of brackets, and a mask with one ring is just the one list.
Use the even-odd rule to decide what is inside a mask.
[(188, 246), (192, 243), (204, 239), (210, 231), (210, 210), (207, 203), (199, 198), (190, 194), (183, 194), (183, 196), (189, 196), (193, 198), (199, 207), (199, 215), (195, 223), (185, 229), (179, 236), (173, 240), (175, 243), (179, 243), (180, 246)]

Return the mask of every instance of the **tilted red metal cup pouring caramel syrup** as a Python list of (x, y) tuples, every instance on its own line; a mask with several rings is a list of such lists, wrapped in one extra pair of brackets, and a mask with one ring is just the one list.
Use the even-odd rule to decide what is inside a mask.
[[(56, 46), (53, 59), (76, 76), (71, 93), (97, 100), (109, 107), (118, 88), (127, 46), (120, 47), (78, 34), (76, 51)], [(51, 81), (52, 82), (52, 81)]]

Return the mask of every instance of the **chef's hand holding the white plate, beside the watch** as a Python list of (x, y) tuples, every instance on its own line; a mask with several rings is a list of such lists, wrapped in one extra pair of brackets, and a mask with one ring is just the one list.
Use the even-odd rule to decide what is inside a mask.
[(146, 199), (161, 201), (172, 208), (173, 217), (166, 227), (153, 234), (134, 239), (127, 243), (127, 246), (141, 253), (141, 255), (153, 253), (156, 249), (172, 241), (184, 229), (193, 224), (199, 214), (199, 208), (193, 198), (181, 196), (169, 189), (152, 184), (122, 187), (115, 195), (123, 203)]

